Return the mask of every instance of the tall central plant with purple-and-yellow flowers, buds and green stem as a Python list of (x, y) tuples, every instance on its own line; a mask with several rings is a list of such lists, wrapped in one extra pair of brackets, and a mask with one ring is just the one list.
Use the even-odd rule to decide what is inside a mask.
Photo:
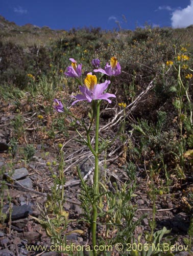
[[(72, 98), (75, 98), (76, 100), (71, 103), (71, 105), (74, 105), (77, 102), (80, 101), (87, 101), (88, 103), (91, 103), (92, 108), (92, 116), (90, 118), (90, 124), (87, 127), (87, 125), (84, 124), (84, 120), (81, 122), (82, 126), (84, 127), (86, 131), (86, 138), (84, 138), (78, 131), (79, 136), (81, 137), (81, 140), (84, 144), (86, 144), (89, 147), (89, 150), (94, 156), (95, 159), (95, 166), (94, 166), (94, 179), (93, 179), (93, 193), (92, 193), (92, 199), (90, 200), (91, 206), (92, 206), (92, 222), (91, 222), (91, 233), (92, 233), (92, 246), (93, 248), (96, 246), (96, 226), (97, 226), (97, 220), (98, 220), (98, 214), (99, 214), (99, 155), (107, 148), (107, 145), (101, 145), (99, 146), (99, 122), (100, 122), (100, 105), (102, 100), (106, 100), (108, 103), (111, 103), (111, 99), (109, 98), (116, 98), (114, 94), (108, 93), (111, 87), (111, 83), (113, 81), (113, 77), (116, 75), (119, 75), (121, 72), (120, 64), (117, 61), (115, 57), (112, 57), (110, 59), (110, 65), (106, 63), (106, 66), (104, 69), (100, 68), (100, 60), (99, 59), (93, 59), (92, 60), (92, 66), (94, 68), (94, 72), (100, 72), (101, 74), (105, 74), (109, 77), (109, 79), (106, 79), (104, 82), (100, 83), (100, 78), (102, 76), (99, 76), (99, 81), (96, 75), (92, 75), (92, 73), (87, 73), (86, 78), (84, 79), (84, 83), (81, 82), (81, 76), (82, 76), (82, 64), (77, 65), (77, 61), (74, 58), (69, 59), (71, 61), (71, 66), (67, 68), (67, 71), (65, 72), (65, 75), (68, 77), (74, 77), (79, 82), (79, 89), (80, 94), (71, 96)], [(54, 109), (57, 110), (57, 112), (66, 112), (66, 107), (63, 106), (61, 101), (54, 99)], [(67, 110), (68, 114), (70, 114), (73, 118), (76, 119), (76, 122), (79, 124), (80, 120), (72, 113), (70, 113), (69, 110)], [(94, 147), (91, 143), (90, 139), (90, 132), (92, 129), (92, 124), (95, 121), (95, 138), (94, 138)], [(87, 187), (87, 184), (83, 180), (81, 176), (81, 172), (78, 169), (78, 174), (81, 179), (81, 183), (84, 188)], [(93, 251), (93, 256), (96, 256), (97, 252)]]

